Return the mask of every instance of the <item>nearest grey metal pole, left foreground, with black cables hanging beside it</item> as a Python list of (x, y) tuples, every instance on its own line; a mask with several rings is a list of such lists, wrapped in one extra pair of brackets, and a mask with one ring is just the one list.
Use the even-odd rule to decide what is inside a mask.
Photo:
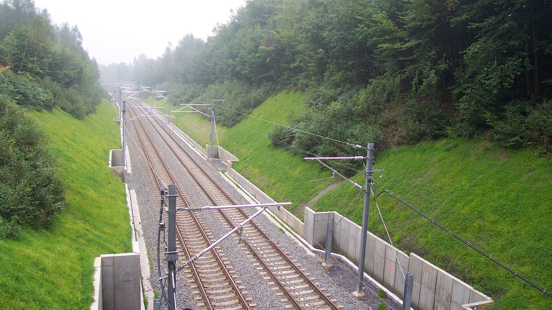
[(167, 255), (168, 282), (167, 293), (169, 308), (176, 309), (176, 263), (178, 252), (176, 250), (176, 185), (168, 185), (168, 209), (167, 209)]

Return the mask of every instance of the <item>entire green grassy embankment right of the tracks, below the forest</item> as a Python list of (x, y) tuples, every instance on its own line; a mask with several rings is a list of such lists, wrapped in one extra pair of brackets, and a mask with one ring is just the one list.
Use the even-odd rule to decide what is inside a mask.
[[(279, 93), (251, 115), (286, 124), (301, 107), (299, 93)], [(209, 121), (197, 114), (178, 114), (175, 124), (204, 145)], [(327, 177), (316, 164), (270, 145), (271, 124), (246, 117), (231, 129), (219, 127), (219, 142), (240, 162), (234, 168), (279, 201), (298, 205), (325, 188)], [(363, 144), (367, 141), (359, 141)], [(378, 191), (389, 189), (412, 206), (511, 266), (547, 291), (552, 290), (552, 166), (530, 150), (516, 151), (482, 141), (440, 140), (376, 152)], [(363, 176), (353, 178), (363, 184)], [(317, 200), (317, 211), (346, 213), (360, 193), (343, 182)], [(405, 252), (416, 252), (497, 300), (496, 309), (548, 309), (549, 297), (508, 274), (405, 205), (382, 194), (377, 198), (392, 239)], [(362, 199), (347, 217), (360, 224)], [(385, 236), (374, 200), (370, 231)], [(386, 239), (386, 238), (384, 238)], [(523, 240), (520, 240), (523, 239)], [(533, 243), (529, 244), (524, 240)], [(536, 246), (535, 246), (536, 245)], [(487, 278), (487, 279), (485, 279)], [(493, 282), (496, 282), (494, 284)], [(522, 298), (515, 296), (513, 293)]]

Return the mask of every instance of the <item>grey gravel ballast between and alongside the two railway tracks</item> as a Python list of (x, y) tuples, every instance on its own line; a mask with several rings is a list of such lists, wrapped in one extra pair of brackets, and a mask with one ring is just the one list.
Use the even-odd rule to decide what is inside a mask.
[[(186, 192), (189, 197), (190, 205), (195, 206), (205, 206), (209, 205), (207, 201), (204, 200), (203, 196), (199, 193), (199, 190), (195, 188), (193, 182), (189, 179), (185, 170), (181, 167), (181, 163), (178, 159), (175, 158), (174, 154), (169, 150), (167, 146), (163, 145), (161, 137), (158, 135), (155, 130), (151, 127), (150, 124), (147, 124), (146, 120), (143, 120), (146, 130), (150, 133), (150, 136), (155, 141), (160, 152), (163, 156), (163, 159), (167, 162), (169, 167), (171, 167), (174, 175), (181, 183), (182, 189)], [(163, 123), (163, 126), (167, 126)], [(172, 131), (171, 131), (172, 132)], [(235, 200), (241, 204), (251, 203), (251, 199), (243, 194), (241, 190), (238, 190), (235, 185), (231, 184), (227, 178), (222, 175), (216, 168), (219, 168), (218, 161), (210, 161), (195, 151), (187, 143), (185, 143), (180, 137), (175, 133), (171, 135), (187, 149), (188, 153), (194, 157), (194, 159), (201, 163), (211, 176), (215, 178), (217, 183), (221, 185), (227, 193), (229, 193)], [(157, 234), (158, 234), (158, 222), (159, 222), (159, 212), (160, 212), (160, 201), (158, 198), (158, 189), (155, 189), (150, 175), (147, 171), (147, 165), (142, 155), (140, 148), (137, 146), (139, 143), (136, 137), (136, 131), (130, 123), (127, 128), (127, 137), (126, 142), (128, 145), (128, 151), (130, 154), (131, 161), (131, 173), (126, 174), (126, 182), (128, 183), (129, 189), (136, 191), (137, 201), (140, 207), (140, 217), (141, 225), (144, 233), (144, 240), (147, 247), (147, 252), (149, 255), (151, 263), (151, 279), (153, 289), (157, 292), (157, 298), (161, 297), (161, 286), (157, 279), (159, 279), (157, 271)], [(213, 167), (211, 167), (211, 164)], [(249, 214), (253, 213), (255, 210), (245, 209)], [(231, 228), (227, 223), (222, 220), (220, 215), (217, 214), (217, 211), (206, 210), (199, 213), (200, 217), (203, 219), (203, 222), (207, 223), (208, 228), (211, 233), (213, 233), (215, 241), (219, 237), (223, 236)], [(330, 269), (324, 268), (321, 263), (324, 261), (323, 255), (314, 254), (308, 251), (305, 246), (300, 243), (297, 239), (291, 238), (289, 233), (283, 233), (283, 229), (280, 230), (277, 226), (273, 224), (264, 212), (262, 215), (255, 218), (254, 222), (258, 226), (262, 227), (264, 232), (270, 237), (270, 239), (277, 240), (278, 245), (286, 253), (297, 260), (301, 267), (306, 269), (307, 272), (310, 272), (310, 277), (315, 279), (315, 282), (320, 283), (320, 287), (326, 289), (326, 292), (331, 294), (332, 298), (337, 300), (336, 304), (343, 306), (343, 309), (376, 309), (381, 303), (379, 297), (373, 292), (378, 292), (378, 288), (372, 286), (367, 281), (365, 285), (367, 288), (364, 289), (366, 296), (362, 300), (358, 300), (353, 296), (353, 292), (357, 287), (357, 279), (355, 270), (349, 268), (349, 266), (332, 259), (333, 267)], [(166, 220), (163, 220), (166, 221)], [(163, 234), (162, 234), (163, 237)], [(230, 266), (230, 269), (235, 271), (237, 279), (242, 281), (240, 286), (243, 286), (242, 293), (247, 292), (245, 297), (251, 297), (251, 303), (257, 304), (256, 309), (285, 309), (286, 305), (289, 305), (289, 302), (283, 303), (280, 301), (282, 296), (277, 296), (276, 293), (278, 290), (273, 290), (273, 285), (269, 285), (268, 282), (272, 280), (265, 280), (263, 277), (266, 275), (260, 274), (262, 270), (257, 269), (256, 260), (251, 257), (251, 253), (246, 249), (245, 245), (238, 245), (237, 235), (231, 236), (220, 244), (220, 251), (224, 253), (224, 258), (230, 261), (227, 266)], [(166, 270), (166, 261), (164, 260), (164, 250), (165, 245), (161, 244), (161, 254), (160, 254), (160, 266), (161, 273), (164, 276)], [(178, 268), (177, 264), (177, 268)], [(185, 307), (190, 307), (192, 309), (200, 309), (197, 307), (198, 303), (201, 301), (194, 300), (194, 294), (192, 290), (188, 287), (188, 280), (190, 278), (185, 277), (185, 272), (181, 271), (177, 275), (177, 305), (178, 309), (183, 309)], [(392, 309), (400, 309), (401, 307), (392, 301), (389, 298), (385, 298), (385, 302), (388, 303)], [(163, 304), (162, 309), (166, 309), (166, 303)], [(390, 309), (388, 307), (388, 309)]]

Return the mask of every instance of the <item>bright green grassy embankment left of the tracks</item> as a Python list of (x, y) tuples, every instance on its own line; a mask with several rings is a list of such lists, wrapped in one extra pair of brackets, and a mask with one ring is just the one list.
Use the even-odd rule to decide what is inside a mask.
[(49, 134), (67, 206), (50, 228), (0, 240), (0, 309), (87, 309), (94, 257), (131, 250), (124, 184), (107, 167), (109, 149), (120, 148), (117, 113), (103, 100), (84, 120), (27, 114)]

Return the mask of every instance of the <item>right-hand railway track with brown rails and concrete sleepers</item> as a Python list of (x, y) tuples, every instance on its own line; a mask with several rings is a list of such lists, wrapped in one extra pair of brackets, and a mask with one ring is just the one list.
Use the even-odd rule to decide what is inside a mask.
[[(134, 104), (138, 105), (137, 102), (134, 102)], [(136, 114), (144, 113), (147, 111), (145, 109), (146, 107), (140, 108), (140, 112)], [(162, 141), (171, 150), (174, 158), (176, 158), (182, 165), (185, 173), (190, 177), (192, 183), (200, 191), (205, 201), (209, 201), (211, 204), (217, 206), (237, 204), (235, 199), (226, 193), (226, 191), (217, 183), (210, 173), (201, 167), (201, 165), (196, 162), (192, 156), (190, 156), (188, 151), (182, 147), (181, 143), (173, 138), (171, 133), (168, 132), (167, 126), (164, 126), (159, 121), (152, 120), (151, 118), (148, 118), (147, 120), (153, 127), (153, 130), (158, 133), (158, 136), (161, 137)], [(141, 121), (140, 124), (142, 124)], [(144, 129), (143, 125), (142, 129)], [(167, 167), (166, 169), (169, 168)], [(177, 180), (171, 180), (171, 182), (177, 184), (178, 188)], [(178, 193), (184, 197), (183, 194), (181, 194), (181, 190), (178, 190)], [(183, 200), (185, 201), (184, 198)], [(193, 206), (191, 207), (193, 208)], [(248, 217), (247, 213), (242, 209), (219, 209), (217, 212), (219, 212), (221, 220), (224, 220), (231, 228), (236, 227)], [(177, 214), (181, 218), (187, 218), (187, 225), (189, 225), (192, 220), (188, 217), (194, 215), (194, 212), (177, 212)], [(193, 240), (194, 234), (198, 234), (203, 229), (201, 228), (200, 221), (195, 222), (198, 223), (198, 228), (194, 229), (194, 231), (190, 233), (192, 235), (188, 237), (190, 240)], [(325, 293), (324, 288), (319, 287), (320, 285), (315, 282), (304, 269), (301, 268), (299, 263), (291, 259), (288, 253), (285, 253), (282, 249), (280, 249), (273, 240), (270, 240), (261, 227), (258, 227), (253, 221), (251, 221), (243, 226), (242, 229), (243, 230), (240, 232), (242, 249), (247, 250), (252, 254), (252, 263), (258, 266), (257, 269), (261, 272), (264, 279), (272, 281), (269, 282), (269, 284), (273, 286), (272, 289), (274, 291), (277, 291), (276, 295), (282, 297), (281, 301), (286, 304), (286, 308), (342, 308), (336, 304), (336, 300), (332, 299)], [(190, 249), (193, 249), (193, 252), (205, 247), (201, 243), (196, 244), (193, 242), (190, 243), (189, 241), (186, 243), (187, 239), (185, 238), (182, 240), (183, 241), (181, 241), (181, 243), (184, 245), (183, 248), (187, 248), (188, 245), (190, 245)], [(189, 254), (184, 255), (189, 257)], [(212, 259), (211, 262), (214, 263)], [(214, 267), (214, 264), (211, 267)], [(193, 273), (195, 271), (189, 270), (188, 272)], [(220, 274), (220, 271), (214, 272), (214, 274)], [(202, 285), (203, 284), (199, 284), (198, 286)], [(203, 297), (198, 296), (197, 298), (205, 298), (205, 294), (202, 295)]]

